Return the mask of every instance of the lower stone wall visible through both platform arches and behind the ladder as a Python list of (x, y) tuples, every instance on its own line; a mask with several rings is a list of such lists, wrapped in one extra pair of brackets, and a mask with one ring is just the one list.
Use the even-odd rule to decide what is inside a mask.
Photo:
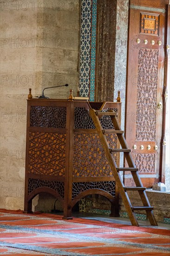
[[(154, 215), (157, 222), (164, 222), (164, 219), (170, 220), (170, 193), (153, 191), (151, 189), (146, 190), (150, 205), (154, 207)], [(133, 206), (142, 206), (139, 194), (137, 191), (128, 191), (131, 204)], [(51, 198), (49, 200), (49, 197)], [(33, 210), (50, 212), (53, 209), (55, 198), (52, 195), (40, 194), (33, 200)], [(79, 211), (86, 213), (95, 213), (97, 215), (109, 216), (111, 213), (111, 202), (102, 195), (88, 195), (82, 198), (79, 202)], [(128, 217), (124, 203), (120, 197), (120, 217)], [(59, 201), (55, 203), (55, 208), (63, 211)], [(145, 211), (136, 211), (137, 219), (146, 220)], [(167, 222), (167, 221), (166, 221)]]

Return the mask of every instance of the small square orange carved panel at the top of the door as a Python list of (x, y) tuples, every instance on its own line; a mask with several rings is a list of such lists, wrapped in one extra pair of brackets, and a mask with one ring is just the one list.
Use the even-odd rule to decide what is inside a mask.
[(140, 34), (159, 35), (159, 14), (140, 13)]

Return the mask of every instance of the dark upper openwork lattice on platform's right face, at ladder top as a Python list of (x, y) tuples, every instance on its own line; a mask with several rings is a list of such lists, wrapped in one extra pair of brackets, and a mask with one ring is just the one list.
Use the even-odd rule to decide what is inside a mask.
[[(111, 108), (108, 108), (108, 109), (111, 109)], [(108, 109), (104, 110), (104, 112), (106, 112)], [(117, 108), (114, 108), (112, 110), (114, 110), (116, 113), (118, 112)], [(104, 129), (114, 129), (110, 115), (104, 115), (102, 118), (100, 118), (100, 123), (102, 128)], [(75, 129), (95, 129), (95, 125), (87, 109), (74, 108), (74, 128)]]

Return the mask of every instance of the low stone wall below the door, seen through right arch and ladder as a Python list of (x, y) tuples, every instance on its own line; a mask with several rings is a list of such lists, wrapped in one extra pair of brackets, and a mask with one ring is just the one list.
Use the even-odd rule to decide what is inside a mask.
[[(132, 206), (142, 206), (140, 196), (137, 191), (128, 191)], [(170, 220), (170, 193), (146, 190), (150, 205), (154, 207), (154, 215), (157, 222), (164, 219)], [(128, 217), (124, 203), (120, 197), (120, 217)], [(96, 213), (99, 215), (110, 215), (111, 203), (101, 195), (87, 196), (79, 201), (79, 209), (82, 212)], [(146, 220), (146, 211), (135, 211), (137, 219)]]

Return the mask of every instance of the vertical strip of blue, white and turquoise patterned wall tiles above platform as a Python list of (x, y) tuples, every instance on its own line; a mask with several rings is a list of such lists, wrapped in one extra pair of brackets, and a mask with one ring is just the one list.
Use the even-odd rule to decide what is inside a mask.
[(96, 65), (97, 0), (81, 0), (80, 96), (94, 101)]

